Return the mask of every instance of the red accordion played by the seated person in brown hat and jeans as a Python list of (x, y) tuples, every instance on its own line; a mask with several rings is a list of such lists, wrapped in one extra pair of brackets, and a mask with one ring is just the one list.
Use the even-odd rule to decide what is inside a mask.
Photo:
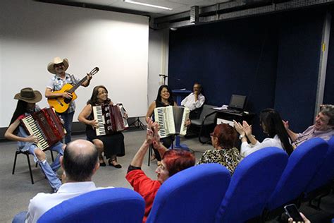
[(51, 145), (63, 139), (65, 131), (54, 109), (44, 108), (21, 119), (30, 135), (37, 136), (37, 147), (47, 150)]

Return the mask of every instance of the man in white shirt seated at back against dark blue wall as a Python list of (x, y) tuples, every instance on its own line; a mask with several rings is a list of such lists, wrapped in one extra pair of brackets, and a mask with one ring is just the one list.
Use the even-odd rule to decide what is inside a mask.
[(199, 118), (199, 108), (201, 108), (205, 102), (205, 97), (201, 92), (202, 85), (200, 83), (194, 83), (193, 92), (181, 102), (182, 106), (190, 109), (190, 119)]

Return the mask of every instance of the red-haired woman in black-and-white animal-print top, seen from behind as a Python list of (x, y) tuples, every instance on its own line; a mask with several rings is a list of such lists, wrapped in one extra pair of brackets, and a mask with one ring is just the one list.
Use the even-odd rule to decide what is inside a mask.
[(239, 150), (235, 147), (237, 132), (225, 123), (221, 123), (214, 128), (211, 133), (211, 143), (213, 150), (206, 150), (197, 164), (218, 163), (225, 166), (230, 174), (233, 174), (235, 167), (241, 161)]

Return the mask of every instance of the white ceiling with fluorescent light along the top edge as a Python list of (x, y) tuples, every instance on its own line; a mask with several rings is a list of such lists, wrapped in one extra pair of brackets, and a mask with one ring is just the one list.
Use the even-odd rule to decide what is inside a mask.
[(211, 6), (217, 3), (227, 2), (230, 0), (206, 0), (206, 1), (199, 1), (199, 0), (134, 0), (134, 1), (173, 8), (173, 10), (152, 8), (149, 6), (140, 6), (137, 4), (130, 4), (128, 2), (124, 2), (123, 0), (69, 0), (67, 2), (94, 4), (98, 6), (122, 8), (125, 10), (132, 10), (132, 11), (141, 11), (141, 12), (149, 14), (149, 16), (153, 18), (158, 18), (161, 16), (169, 16), (169, 15), (173, 15), (176, 13), (190, 11), (191, 6)]

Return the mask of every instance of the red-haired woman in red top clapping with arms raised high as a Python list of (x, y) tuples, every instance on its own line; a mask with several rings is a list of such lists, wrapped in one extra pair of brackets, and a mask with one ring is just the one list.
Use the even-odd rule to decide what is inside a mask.
[[(156, 192), (158, 192), (161, 184), (178, 171), (194, 166), (195, 162), (194, 155), (192, 155), (191, 152), (185, 150), (167, 150), (166, 147), (160, 143), (158, 123), (153, 123), (151, 119), (148, 119), (147, 127), (147, 137), (137, 151), (135, 157), (133, 157), (128, 168), (128, 174), (126, 175), (126, 179), (129, 181), (133, 189), (140, 193), (145, 200), (143, 222), (146, 222), (146, 219), (149, 216)], [(154, 129), (154, 132), (151, 131), (152, 128)], [(159, 150), (162, 157), (161, 164), (156, 168), (156, 181), (146, 176), (141, 169), (144, 156), (151, 144), (153, 144), (154, 148)]]

